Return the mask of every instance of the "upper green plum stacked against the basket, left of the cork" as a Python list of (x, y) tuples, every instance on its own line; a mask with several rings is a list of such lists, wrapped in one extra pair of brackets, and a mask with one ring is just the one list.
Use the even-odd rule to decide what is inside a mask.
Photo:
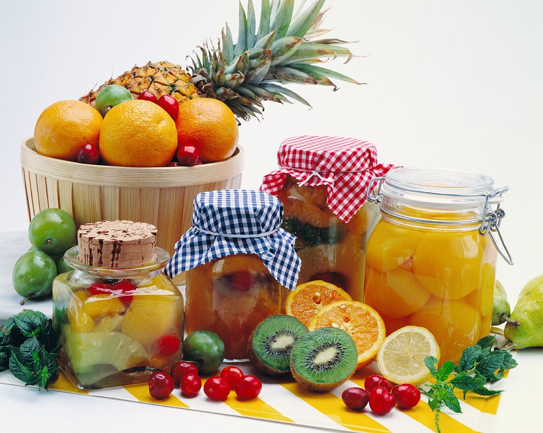
[(30, 222), (28, 239), (38, 250), (49, 256), (60, 256), (75, 241), (75, 222), (61, 209), (44, 209)]

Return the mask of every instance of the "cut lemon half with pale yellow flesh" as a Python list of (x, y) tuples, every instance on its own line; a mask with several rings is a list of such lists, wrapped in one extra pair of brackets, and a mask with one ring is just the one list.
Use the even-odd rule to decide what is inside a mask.
[(405, 326), (384, 340), (377, 354), (381, 374), (396, 384), (421, 384), (431, 374), (424, 364), (426, 356), (439, 359), (440, 351), (433, 334), (420, 326)]

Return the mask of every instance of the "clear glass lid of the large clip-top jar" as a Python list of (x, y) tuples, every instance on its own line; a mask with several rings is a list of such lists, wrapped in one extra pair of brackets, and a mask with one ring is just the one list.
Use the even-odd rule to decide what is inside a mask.
[[(491, 177), (469, 171), (402, 167), (384, 176), (381, 193), (384, 198), (399, 200), (405, 205), (472, 210), (479, 216), (484, 213), (487, 195), (493, 187)], [(487, 205), (502, 200), (501, 195), (497, 195)]]

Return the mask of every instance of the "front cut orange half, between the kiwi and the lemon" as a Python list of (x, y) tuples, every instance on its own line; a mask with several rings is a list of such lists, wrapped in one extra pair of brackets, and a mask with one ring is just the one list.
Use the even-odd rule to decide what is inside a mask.
[(370, 365), (385, 338), (384, 322), (377, 311), (362, 302), (338, 301), (317, 313), (307, 327), (340, 328), (348, 332), (358, 350), (356, 369)]

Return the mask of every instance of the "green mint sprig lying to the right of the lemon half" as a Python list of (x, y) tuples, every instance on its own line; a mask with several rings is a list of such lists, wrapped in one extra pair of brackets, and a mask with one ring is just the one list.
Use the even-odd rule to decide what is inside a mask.
[[(455, 365), (446, 361), (438, 368), (439, 360), (434, 356), (426, 356), (424, 363), (435, 379), (435, 384), (427, 383), (428, 406), (435, 413), (435, 428), (441, 433), (439, 415), (443, 406), (449, 407), (456, 413), (462, 413), (460, 402), (454, 389), (462, 390), (464, 399), (471, 392), (479, 396), (495, 396), (503, 390), (489, 390), (485, 385), (494, 383), (503, 378), (506, 370), (515, 368), (517, 362), (506, 349), (496, 346), (496, 337), (488, 335), (477, 342), (476, 345), (466, 347), (462, 357)], [(449, 377), (453, 375), (451, 379)]]

